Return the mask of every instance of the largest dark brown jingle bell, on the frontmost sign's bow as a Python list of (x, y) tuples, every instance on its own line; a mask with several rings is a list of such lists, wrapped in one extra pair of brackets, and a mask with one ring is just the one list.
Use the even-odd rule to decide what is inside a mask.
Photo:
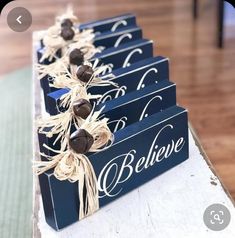
[(78, 129), (69, 139), (70, 147), (79, 154), (87, 153), (94, 143), (94, 138), (84, 129)]

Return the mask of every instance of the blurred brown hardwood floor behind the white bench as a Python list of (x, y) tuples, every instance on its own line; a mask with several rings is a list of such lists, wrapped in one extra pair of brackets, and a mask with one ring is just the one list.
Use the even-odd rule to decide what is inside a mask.
[[(31, 31), (50, 26), (65, 0), (28, 0), (21, 6), (33, 15)], [(217, 173), (235, 198), (235, 25), (225, 27), (225, 48), (216, 48), (216, 4), (200, 1), (193, 21), (188, 0), (79, 0), (81, 22), (125, 12), (137, 15), (144, 36), (155, 42), (155, 54), (171, 60), (170, 79), (177, 83), (178, 102), (190, 120)], [(78, 4), (79, 3), (79, 4)], [(3, 12), (3, 17), (6, 13)], [(230, 14), (235, 22), (235, 14)], [(31, 63), (31, 31), (11, 32), (0, 21), (0, 75)]]

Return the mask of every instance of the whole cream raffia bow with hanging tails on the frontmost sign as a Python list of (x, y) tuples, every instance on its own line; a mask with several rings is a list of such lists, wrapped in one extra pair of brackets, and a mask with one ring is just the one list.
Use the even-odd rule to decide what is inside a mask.
[[(85, 129), (94, 138), (90, 152), (107, 149), (113, 142), (113, 134), (107, 126), (108, 119), (99, 119), (102, 110), (93, 111), (80, 126), (81, 129)], [(43, 146), (58, 154), (52, 157), (42, 154), (49, 161), (35, 161), (33, 165), (35, 173), (40, 175), (54, 168), (54, 176), (57, 179), (61, 181), (69, 180), (72, 183), (79, 181), (79, 219), (93, 214), (99, 209), (99, 194), (96, 174), (87, 156), (75, 153), (71, 148), (65, 151), (57, 151), (45, 144)], [(84, 189), (86, 190), (85, 197), (83, 197)]]

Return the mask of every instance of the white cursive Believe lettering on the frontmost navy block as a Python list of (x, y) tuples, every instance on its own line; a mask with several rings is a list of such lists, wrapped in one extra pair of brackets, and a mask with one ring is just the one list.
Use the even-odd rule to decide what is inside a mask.
[[(169, 159), (173, 154), (179, 153), (185, 145), (185, 138), (177, 136), (168, 141), (164, 141), (164, 145), (159, 145), (161, 136), (165, 133), (174, 135), (174, 126), (167, 124), (160, 130), (153, 131), (155, 133), (152, 142), (149, 142), (149, 148), (142, 153), (142, 148), (130, 149), (129, 152), (110, 158), (109, 162), (102, 168), (98, 176), (98, 189), (100, 191), (99, 198), (115, 197), (121, 193), (125, 182), (140, 174), (152, 166), (157, 166), (163, 160)], [(133, 179), (133, 178), (132, 178)]]

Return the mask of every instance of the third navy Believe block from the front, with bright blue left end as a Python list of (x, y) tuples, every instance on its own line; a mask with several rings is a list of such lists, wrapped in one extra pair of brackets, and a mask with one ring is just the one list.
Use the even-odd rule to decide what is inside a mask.
[[(88, 92), (92, 95), (101, 94), (100, 102), (108, 101), (120, 96), (124, 96), (129, 92), (143, 89), (151, 84), (169, 79), (169, 62), (162, 56), (148, 58), (132, 64), (128, 68), (116, 69), (112, 72), (114, 82), (119, 87), (91, 87)], [(69, 89), (59, 89), (48, 94), (46, 111), (50, 115), (56, 115), (64, 109), (60, 107), (60, 97), (68, 93)]]

